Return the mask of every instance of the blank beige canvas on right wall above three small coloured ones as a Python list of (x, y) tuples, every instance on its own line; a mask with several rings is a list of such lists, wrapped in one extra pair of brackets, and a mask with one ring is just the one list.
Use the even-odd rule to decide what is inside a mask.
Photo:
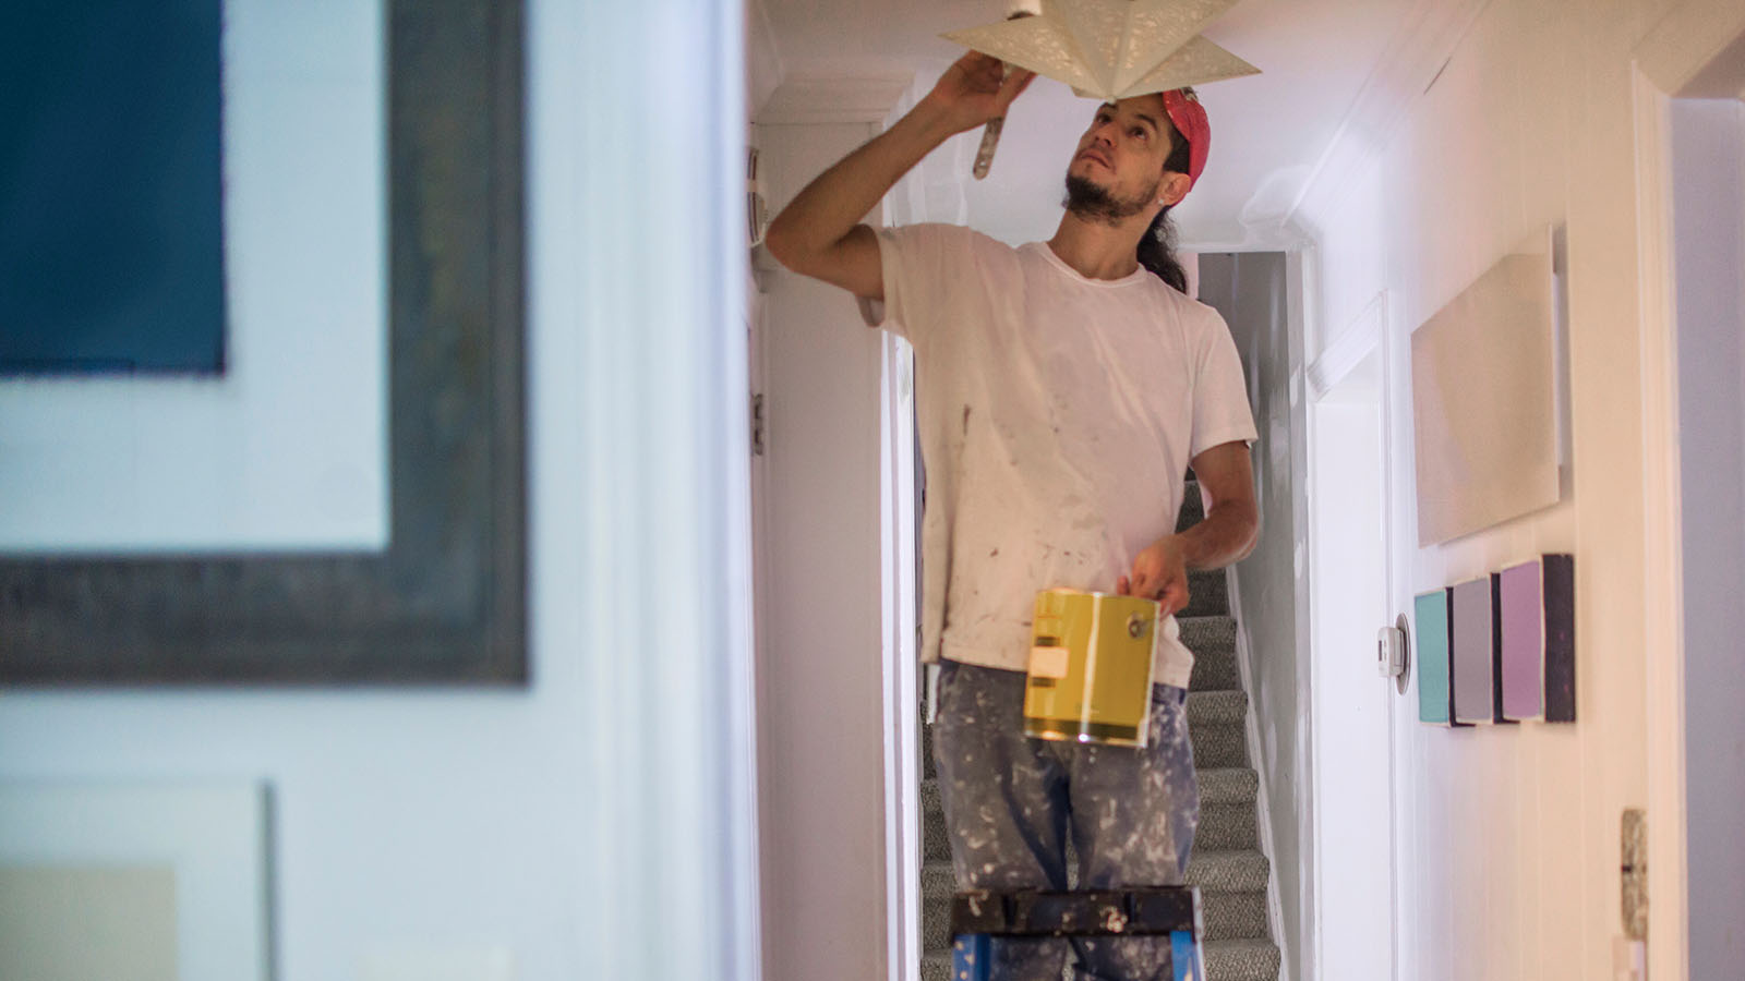
[(1412, 333), (1419, 546), (1560, 497), (1553, 237), (1506, 255)]

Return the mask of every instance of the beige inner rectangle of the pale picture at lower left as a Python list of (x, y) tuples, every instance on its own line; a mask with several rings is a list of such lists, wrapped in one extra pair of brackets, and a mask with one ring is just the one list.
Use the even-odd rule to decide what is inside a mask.
[(0, 866), (0, 978), (176, 981), (171, 866)]

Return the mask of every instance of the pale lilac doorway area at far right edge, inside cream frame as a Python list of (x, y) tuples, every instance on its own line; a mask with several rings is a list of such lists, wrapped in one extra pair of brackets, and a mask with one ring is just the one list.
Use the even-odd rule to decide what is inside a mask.
[[(1736, 61), (1733, 77), (1745, 77), (1745, 54)], [(1738, 845), (1745, 810), (1745, 719), (1738, 710), (1745, 702), (1738, 663), (1738, 597), (1745, 592), (1745, 105), (1673, 99), (1670, 129), (1689, 978), (1738, 978), (1745, 957), (1745, 850)], [(1651, 813), (1651, 827), (1653, 820)]]

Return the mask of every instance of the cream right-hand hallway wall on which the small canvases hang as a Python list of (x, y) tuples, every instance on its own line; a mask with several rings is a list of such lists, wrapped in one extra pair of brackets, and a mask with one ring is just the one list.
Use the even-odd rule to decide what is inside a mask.
[[(1570, 7), (1469, 5), (1476, 19), (1447, 65), (1396, 79), (1398, 117), (1366, 133), (1366, 162), (1323, 173), (1297, 213), (1319, 250), (1319, 339), (1338, 337), (1389, 292), (1396, 611), (1415, 590), (1541, 552), (1576, 555), (1576, 724), (1448, 731), (1420, 726), (1415, 691), (1403, 696), (1401, 979), (1611, 978), (1619, 815), (1647, 803), (1644, 672), (1654, 651), (1644, 651), (1632, 49), (1670, 3), (1611, 0), (1579, 16)], [(1565, 497), (1419, 550), (1410, 333), (1513, 243), (1553, 223), (1567, 225), (1569, 241)], [(1316, 347), (1310, 361), (1324, 344)]]

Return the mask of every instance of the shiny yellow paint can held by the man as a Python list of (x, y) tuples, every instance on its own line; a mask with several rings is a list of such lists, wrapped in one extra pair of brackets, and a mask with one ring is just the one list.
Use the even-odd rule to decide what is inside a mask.
[(1143, 747), (1159, 613), (1157, 600), (1131, 595), (1038, 592), (1024, 735)]

